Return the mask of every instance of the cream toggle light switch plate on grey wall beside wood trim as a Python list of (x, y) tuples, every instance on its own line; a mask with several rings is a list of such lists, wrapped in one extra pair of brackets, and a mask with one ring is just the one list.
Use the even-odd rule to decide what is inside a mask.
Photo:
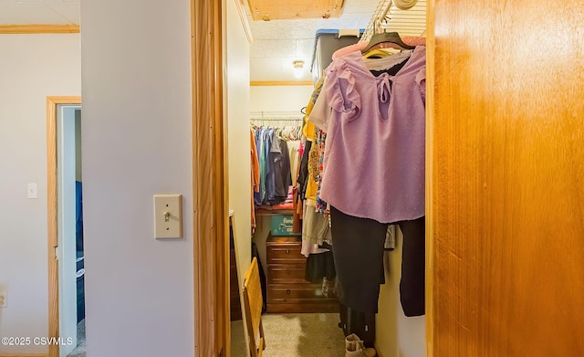
[(183, 200), (181, 194), (154, 194), (154, 237), (183, 237)]

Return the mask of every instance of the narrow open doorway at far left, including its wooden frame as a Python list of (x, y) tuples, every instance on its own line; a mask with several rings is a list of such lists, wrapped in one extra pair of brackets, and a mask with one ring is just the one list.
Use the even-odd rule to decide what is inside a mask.
[(49, 346), (51, 357), (85, 356), (81, 105), (47, 98)]

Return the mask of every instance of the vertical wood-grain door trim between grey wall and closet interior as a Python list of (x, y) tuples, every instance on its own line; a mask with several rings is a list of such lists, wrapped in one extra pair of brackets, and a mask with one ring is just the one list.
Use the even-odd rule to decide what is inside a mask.
[(191, 0), (194, 355), (228, 356), (224, 1)]

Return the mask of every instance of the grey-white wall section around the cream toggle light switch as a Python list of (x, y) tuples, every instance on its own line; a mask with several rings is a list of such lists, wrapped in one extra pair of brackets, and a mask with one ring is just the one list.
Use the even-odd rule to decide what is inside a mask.
[[(192, 356), (189, 0), (81, 3), (89, 356)], [(183, 194), (183, 238), (153, 238)]]

